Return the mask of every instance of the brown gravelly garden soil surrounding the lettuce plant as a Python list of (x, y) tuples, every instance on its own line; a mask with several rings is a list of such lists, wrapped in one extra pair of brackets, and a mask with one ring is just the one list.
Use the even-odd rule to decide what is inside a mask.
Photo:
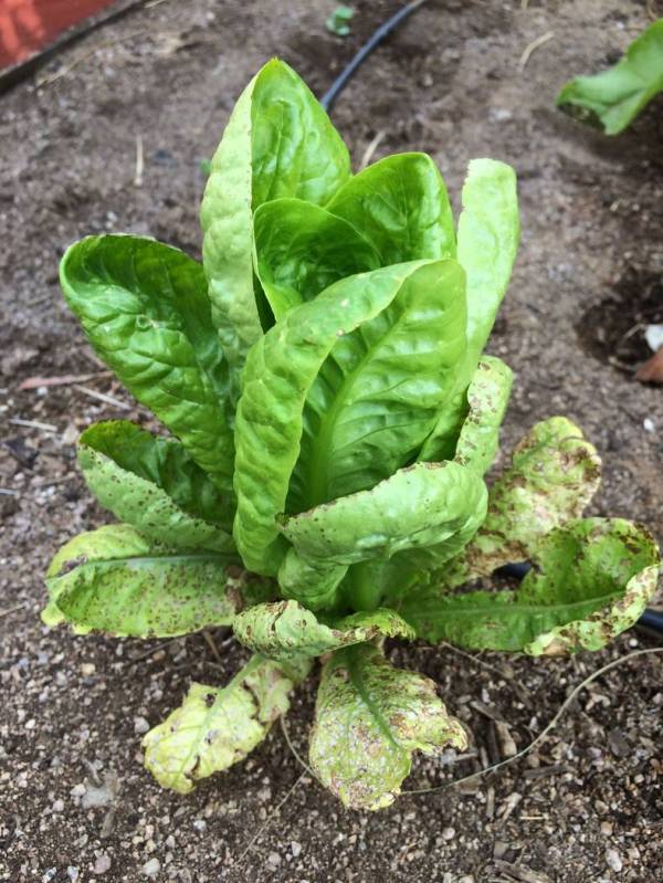
[[(192, 795), (159, 790), (140, 765), (140, 733), (179, 704), (191, 680), (227, 680), (242, 651), (218, 634), (219, 667), (200, 635), (145, 644), (50, 631), (39, 620), (50, 556), (107, 517), (75, 469), (76, 433), (101, 418), (148, 422), (97, 374), (59, 294), (60, 255), (76, 238), (109, 230), (199, 254), (200, 160), (241, 87), (280, 54), (322, 94), (399, 2), (354, 6), (352, 34), (341, 40), (324, 28), (332, 0), (147, 3), (2, 99), (2, 880), (663, 879), (661, 655), (601, 675), (543, 746), (501, 775), (404, 795), (368, 814), (345, 811), (302, 777), (278, 727), (245, 764)], [(565, 78), (613, 61), (655, 8), (429, 0), (370, 57), (333, 116), (357, 164), (383, 133), (373, 158), (427, 150), (456, 198), (470, 157), (516, 167), (522, 250), (491, 344), (516, 371), (504, 446), (537, 419), (568, 414), (604, 460), (592, 512), (644, 522), (663, 539), (663, 390), (633, 381), (631, 366), (646, 353), (624, 355), (614, 337), (642, 323), (651, 292), (661, 296), (649, 281), (663, 276), (663, 104), (652, 103), (619, 138), (554, 107)], [(519, 72), (525, 48), (549, 31)], [(608, 358), (615, 354), (620, 364)], [(20, 389), (27, 378), (66, 374), (88, 377)], [(583, 676), (655, 645), (633, 630), (603, 652), (545, 661), (393, 643), (393, 661), (434, 677), (474, 734), (474, 756), (419, 760), (406, 789), (498, 758), (506, 749), (494, 717), (524, 747)], [(288, 717), (299, 753), (313, 701), (312, 682)]]

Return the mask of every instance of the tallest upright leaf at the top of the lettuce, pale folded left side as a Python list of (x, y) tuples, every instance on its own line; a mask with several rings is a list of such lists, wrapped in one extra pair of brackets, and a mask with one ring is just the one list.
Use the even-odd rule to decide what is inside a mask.
[(212, 318), (233, 401), (249, 347), (262, 335), (252, 211), (280, 197), (324, 204), (349, 177), (348, 150), (308, 86), (287, 64), (267, 62), (234, 107), (201, 207)]

